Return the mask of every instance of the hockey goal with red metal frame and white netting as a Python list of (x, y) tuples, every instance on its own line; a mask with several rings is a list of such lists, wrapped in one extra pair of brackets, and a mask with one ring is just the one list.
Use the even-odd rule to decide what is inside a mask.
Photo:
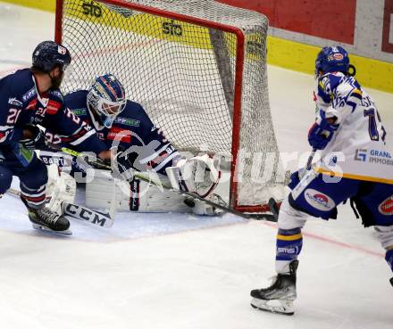
[(213, 0), (57, 0), (55, 40), (72, 55), (63, 93), (113, 73), (179, 150), (230, 157), (232, 208), (268, 210), (284, 178), (267, 29), (262, 14)]

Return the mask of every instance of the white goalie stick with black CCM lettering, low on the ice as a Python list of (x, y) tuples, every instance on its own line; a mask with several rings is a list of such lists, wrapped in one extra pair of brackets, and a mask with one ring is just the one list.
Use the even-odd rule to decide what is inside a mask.
[[(7, 190), (8, 194), (20, 197), (21, 192), (10, 188)], [(110, 212), (105, 213), (97, 210), (92, 210), (87, 207), (80, 206), (76, 203), (62, 202), (63, 215), (71, 218), (76, 218), (82, 221), (87, 221), (91, 224), (101, 227), (113, 226), (113, 218)]]

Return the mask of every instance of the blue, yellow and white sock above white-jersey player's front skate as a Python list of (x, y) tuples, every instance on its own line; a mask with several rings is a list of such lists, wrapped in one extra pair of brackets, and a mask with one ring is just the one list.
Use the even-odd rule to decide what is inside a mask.
[(297, 259), (302, 250), (303, 236), (301, 228), (289, 230), (279, 228), (276, 242), (276, 271), (277, 273), (288, 273), (289, 263)]

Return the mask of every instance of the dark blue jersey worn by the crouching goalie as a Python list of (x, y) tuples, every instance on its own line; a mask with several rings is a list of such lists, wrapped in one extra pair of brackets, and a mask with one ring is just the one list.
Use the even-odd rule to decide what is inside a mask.
[[(155, 127), (140, 104), (128, 100), (124, 110), (114, 120), (113, 126), (108, 128), (102, 126), (94, 111), (88, 110), (87, 96), (87, 90), (79, 90), (66, 95), (64, 99), (76, 117), (96, 128), (98, 137), (106, 144), (107, 149), (120, 146), (130, 152), (134, 169), (148, 169), (165, 174), (164, 169), (180, 157), (180, 153), (163, 136), (163, 132)], [(50, 131), (48, 133), (50, 134)], [(60, 142), (57, 136), (53, 138)]]

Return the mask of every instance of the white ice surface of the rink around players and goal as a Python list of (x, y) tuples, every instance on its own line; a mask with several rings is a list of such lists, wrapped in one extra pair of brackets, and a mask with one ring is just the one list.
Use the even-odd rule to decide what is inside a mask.
[[(0, 4), (0, 76), (54, 36), (54, 15)], [(281, 152), (308, 151), (314, 78), (269, 68)], [(392, 144), (393, 95), (370, 90)], [(297, 161), (290, 166), (297, 167)], [(17, 181), (13, 182), (17, 187)], [(71, 238), (33, 230), (0, 200), (0, 327), (7, 329), (390, 329), (392, 274), (348, 206), (304, 230), (294, 317), (249, 306), (273, 274), (275, 226), (231, 215), (126, 214), (111, 229), (73, 220)]]

